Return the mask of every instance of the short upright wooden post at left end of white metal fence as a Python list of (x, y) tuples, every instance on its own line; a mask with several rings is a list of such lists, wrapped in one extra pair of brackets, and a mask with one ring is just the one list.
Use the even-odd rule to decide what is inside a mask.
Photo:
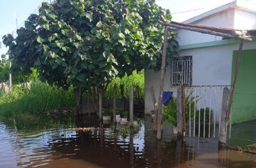
[(182, 136), (182, 92), (181, 92), (181, 86), (177, 88), (177, 127), (178, 127), (178, 136)]

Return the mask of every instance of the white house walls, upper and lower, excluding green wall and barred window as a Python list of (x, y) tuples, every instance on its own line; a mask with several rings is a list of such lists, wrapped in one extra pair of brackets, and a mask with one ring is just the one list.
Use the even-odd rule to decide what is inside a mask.
[[(217, 14), (213, 14), (209, 17), (193, 22), (199, 25), (208, 25), (221, 28), (233, 28), (233, 29), (256, 29), (256, 14), (254, 12), (248, 12), (241, 8), (230, 8)], [(207, 42), (222, 42), (220, 36), (213, 36), (209, 34), (201, 34), (199, 32), (191, 32), (188, 30), (177, 30), (179, 45), (190, 44), (203, 44)], [(194, 45), (196, 46), (196, 45)], [(202, 46), (202, 45), (197, 45)], [(225, 45), (216, 45), (208, 47), (197, 47), (186, 50), (181, 50), (180, 56), (193, 56), (193, 85), (231, 85), (232, 68), (233, 68), (233, 51), (238, 50), (239, 43), (233, 43)], [(244, 44), (244, 50), (250, 50), (256, 48), (256, 42), (250, 42)], [(255, 67), (256, 68), (256, 67)], [(145, 71), (145, 112), (149, 113), (153, 109), (152, 98), (150, 96), (150, 86), (155, 89), (156, 97), (159, 94), (159, 74), (152, 70)], [(203, 88), (204, 89), (204, 88)], [(220, 87), (219, 89), (223, 89)], [(170, 87), (170, 68), (167, 67), (166, 78), (164, 83), (164, 91), (174, 92), (174, 96), (177, 94), (177, 88)], [(197, 90), (198, 91), (198, 90)], [(203, 90), (204, 92), (204, 90)], [(200, 92), (201, 94), (201, 92)], [(198, 96), (199, 92), (197, 92)], [(221, 92), (215, 94), (219, 104), (215, 105), (217, 118), (221, 112)], [(206, 99), (209, 100), (210, 95), (206, 95)], [(238, 100), (238, 99), (237, 99)], [(200, 102), (203, 102), (202, 100)], [(209, 107), (209, 101), (206, 102), (206, 107)], [(197, 103), (197, 108), (199, 105)], [(256, 107), (255, 107), (256, 108)], [(234, 118), (234, 120), (237, 120)], [(236, 121), (234, 121), (236, 122)], [(217, 122), (218, 123), (218, 122)]]

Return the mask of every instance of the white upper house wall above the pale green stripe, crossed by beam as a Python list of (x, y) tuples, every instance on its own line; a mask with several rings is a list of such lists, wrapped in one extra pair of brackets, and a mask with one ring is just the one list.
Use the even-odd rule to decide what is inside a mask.
[[(195, 21), (193, 24), (208, 25), (219, 28), (231, 28), (237, 30), (256, 29), (256, 13), (248, 12), (239, 8), (224, 10), (210, 17)], [(209, 41), (221, 41), (221, 36), (191, 32), (188, 30), (177, 30), (179, 45), (194, 43), (205, 43)]]

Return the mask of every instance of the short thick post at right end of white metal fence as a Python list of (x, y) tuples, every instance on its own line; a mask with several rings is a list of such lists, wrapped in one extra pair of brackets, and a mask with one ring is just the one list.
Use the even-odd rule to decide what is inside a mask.
[(220, 133), (219, 133), (219, 143), (221, 145), (226, 145), (226, 135), (228, 129), (228, 122), (226, 121), (226, 111), (228, 109), (228, 103), (230, 100), (230, 90), (225, 87), (222, 96), (222, 107), (221, 107), (221, 123), (219, 123)]

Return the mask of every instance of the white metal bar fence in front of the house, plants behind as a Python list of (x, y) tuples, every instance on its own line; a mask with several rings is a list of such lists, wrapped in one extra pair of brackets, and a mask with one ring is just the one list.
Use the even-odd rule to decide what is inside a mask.
[(224, 87), (229, 85), (195, 85), (185, 87), (186, 136), (217, 138), (220, 133)]

